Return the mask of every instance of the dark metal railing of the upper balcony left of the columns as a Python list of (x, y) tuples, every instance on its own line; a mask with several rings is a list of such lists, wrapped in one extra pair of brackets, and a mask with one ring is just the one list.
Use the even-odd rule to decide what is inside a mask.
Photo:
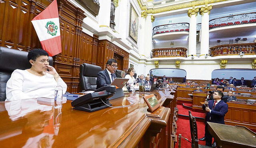
[(153, 28), (153, 35), (167, 32), (189, 32), (189, 23), (160, 25)]

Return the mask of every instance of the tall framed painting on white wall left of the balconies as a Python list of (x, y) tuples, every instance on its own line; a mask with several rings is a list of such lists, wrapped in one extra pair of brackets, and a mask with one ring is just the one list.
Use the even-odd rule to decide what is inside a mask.
[(137, 43), (138, 39), (138, 14), (133, 8), (130, 8), (130, 23), (129, 23), (129, 36)]

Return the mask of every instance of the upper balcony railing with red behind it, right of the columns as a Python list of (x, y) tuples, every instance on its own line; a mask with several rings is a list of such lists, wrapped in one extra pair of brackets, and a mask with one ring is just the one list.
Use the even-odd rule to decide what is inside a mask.
[(256, 23), (256, 12), (214, 18), (209, 21), (209, 29), (250, 23)]

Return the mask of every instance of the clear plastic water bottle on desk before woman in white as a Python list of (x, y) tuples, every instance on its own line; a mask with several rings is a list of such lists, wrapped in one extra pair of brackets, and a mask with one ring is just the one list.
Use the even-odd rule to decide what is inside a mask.
[(57, 87), (55, 88), (54, 94), (54, 108), (59, 109), (62, 108), (62, 92), (63, 88), (61, 87), (61, 80), (58, 79)]

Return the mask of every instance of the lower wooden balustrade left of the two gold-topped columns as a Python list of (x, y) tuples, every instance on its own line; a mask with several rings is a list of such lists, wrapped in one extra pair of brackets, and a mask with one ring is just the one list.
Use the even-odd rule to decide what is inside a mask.
[(156, 48), (152, 50), (152, 57), (187, 57), (187, 50), (183, 47)]

